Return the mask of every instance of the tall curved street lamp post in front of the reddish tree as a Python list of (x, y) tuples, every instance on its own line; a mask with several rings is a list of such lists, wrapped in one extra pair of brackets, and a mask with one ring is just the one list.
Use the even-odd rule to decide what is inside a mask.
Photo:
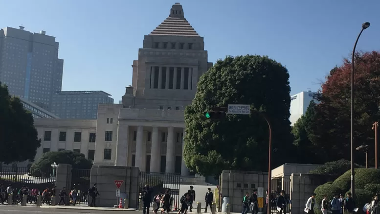
[(361, 25), (361, 30), (356, 39), (354, 49), (352, 50), (352, 61), (351, 61), (351, 194), (354, 197), (355, 195), (355, 163), (354, 163), (354, 58), (355, 58), (355, 49), (358, 44), (358, 40), (360, 38), (363, 30), (369, 27), (369, 23), (363, 23)]

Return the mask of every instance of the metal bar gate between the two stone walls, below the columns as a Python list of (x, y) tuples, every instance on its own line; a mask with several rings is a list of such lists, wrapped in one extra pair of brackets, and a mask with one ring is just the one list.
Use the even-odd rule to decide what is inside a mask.
[[(152, 190), (152, 199), (158, 193), (164, 193), (170, 189), (170, 195), (173, 197), (173, 207), (177, 203), (179, 206), (179, 199), (185, 192), (179, 192), (180, 175), (174, 173), (160, 173), (160, 172), (140, 172), (139, 192), (141, 193), (145, 185), (149, 185)], [(138, 195), (138, 197), (140, 197)], [(137, 201), (140, 198), (137, 198)], [(138, 204), (137, 204), (138, 206)]]

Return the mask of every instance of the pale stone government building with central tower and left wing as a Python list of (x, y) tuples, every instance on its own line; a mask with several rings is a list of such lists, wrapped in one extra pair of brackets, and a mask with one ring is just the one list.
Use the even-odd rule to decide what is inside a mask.
[(35, 119), (42, 139), (36, 160), (44, 152), (67, 149), (95, 165), (188, 176), (182, 159), (183, 110), (210, 67), (203, 37), (175, 3), (169, 17), (144, 37), (122, 104), (99, 104), (96, 120)]

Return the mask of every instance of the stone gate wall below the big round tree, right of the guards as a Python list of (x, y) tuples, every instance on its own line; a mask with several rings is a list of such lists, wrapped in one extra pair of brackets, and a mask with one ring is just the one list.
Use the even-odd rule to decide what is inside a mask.
[(268, 173), (223, 170), (221, 174), (221, 195), (222, 198), (229, 197), (231, 213), (241, 212), (242, 200), (246, 192), (252, 194), (253, 190), (258, 187), (263, 187), (264, 190), (268, 189)]

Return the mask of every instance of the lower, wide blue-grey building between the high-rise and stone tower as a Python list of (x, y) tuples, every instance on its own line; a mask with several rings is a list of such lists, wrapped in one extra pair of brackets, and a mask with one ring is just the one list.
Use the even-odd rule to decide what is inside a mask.
[(103, 91), (56, 92), (51, 112), (63, 119), (96, 119), (99, 103), (113, 103)]

